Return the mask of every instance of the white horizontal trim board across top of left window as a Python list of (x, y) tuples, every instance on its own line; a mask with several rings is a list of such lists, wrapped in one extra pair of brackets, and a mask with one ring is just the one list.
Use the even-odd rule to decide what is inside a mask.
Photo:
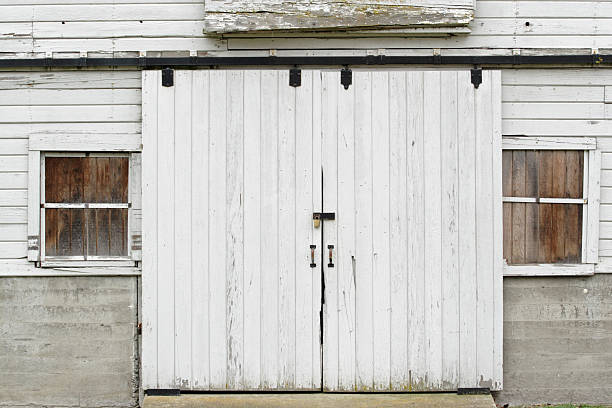
[(29, 149), (39, 151), (136, 152), (142, 150), (141, 141), (140, 134), (33, 134), (30, 136)]

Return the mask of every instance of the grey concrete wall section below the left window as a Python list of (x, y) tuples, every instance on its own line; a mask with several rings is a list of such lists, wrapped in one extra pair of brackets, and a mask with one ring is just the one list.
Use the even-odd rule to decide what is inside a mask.
[(137, 278), (0, 278), (0, 407), (138, 403)]

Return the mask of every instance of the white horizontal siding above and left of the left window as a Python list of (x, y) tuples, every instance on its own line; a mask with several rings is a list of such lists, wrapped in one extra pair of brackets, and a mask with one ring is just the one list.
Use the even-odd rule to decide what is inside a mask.
[(27, 250), (29, 142), (140, 141), (140, 72), (0, 72), (0, 258)]

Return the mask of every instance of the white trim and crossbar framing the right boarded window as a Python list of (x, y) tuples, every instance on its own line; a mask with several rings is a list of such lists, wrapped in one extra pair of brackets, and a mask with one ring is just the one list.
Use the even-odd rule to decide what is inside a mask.
[(503, 202), (550, 202), (583, 204), (582, 263), (579, 264), (504, 264), (504, 276), (579, 276), (593, 275), (599, 260), (599, 204), (601, 152), (593, 137), (527, 137), (505, 136), (503, 150), (583, 150), (583, 198), (535, 199), (503, 197)]

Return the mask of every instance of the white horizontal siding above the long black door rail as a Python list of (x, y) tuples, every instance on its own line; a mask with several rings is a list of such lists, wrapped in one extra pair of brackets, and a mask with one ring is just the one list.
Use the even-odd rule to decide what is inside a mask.
[[(253, 40), (206, 38), (203, 0), (16, 0), (0, 1), (0, 49), (3, 55), (45, 52), (125, 53), (138, 51), (227, 50), (305, 54), (308, 49), (385, 49), (384, 53), (414, 54), (433, 48), (450, 53), (550, 53), (551, 49), (612, 48), (612, 5), (609, 2), (477, 0), (471, 34), (442, 38), (275, 38)], [(529, 23), (529, 25), (527, 25)], [(329, 34), (327, 35), (329, 37)], [(302, 36), (303, 37), (303, 36)], [(535, 50), (533, 50), (535, 49)], [(485, 51), (483, 51), (485, 50)], [(314, 51), (316, 53), (316, 51)], [(134, 54), (137, 55), (137, 54)], [(262, 55), (261, 53), (259, 55)], [(265, 54), (263, 54), (265, 55)]]

